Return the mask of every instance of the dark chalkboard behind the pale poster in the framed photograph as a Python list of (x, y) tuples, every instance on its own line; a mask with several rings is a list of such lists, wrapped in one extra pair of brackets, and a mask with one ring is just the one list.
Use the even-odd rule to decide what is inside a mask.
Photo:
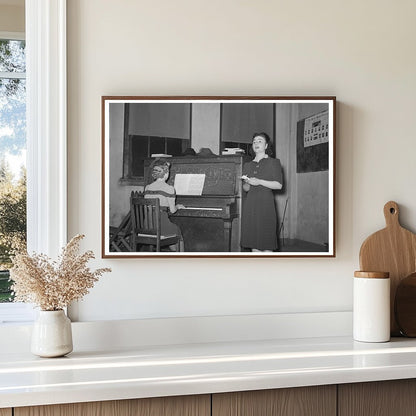
[(314, 146), (304, 146), (305, 119), (297, 123), (296, 141), (296, 172), (320, 172), (328, 170), (328, 142)]

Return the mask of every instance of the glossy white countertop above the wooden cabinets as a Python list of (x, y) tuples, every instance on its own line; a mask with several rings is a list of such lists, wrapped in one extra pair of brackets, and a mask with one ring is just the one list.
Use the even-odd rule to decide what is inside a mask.
[[(108, 334), (109, 337), (115, 334)], [(0, 354), (0, 408), (416, 377), (416, 340), (350, 337)]]

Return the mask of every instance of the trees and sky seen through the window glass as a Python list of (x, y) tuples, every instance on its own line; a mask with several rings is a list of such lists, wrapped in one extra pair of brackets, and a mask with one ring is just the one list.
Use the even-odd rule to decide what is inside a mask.
[(26, 245), (25, 61), (24, 41), (0, 39), (0, 302), (12, 300), (8, 269)]

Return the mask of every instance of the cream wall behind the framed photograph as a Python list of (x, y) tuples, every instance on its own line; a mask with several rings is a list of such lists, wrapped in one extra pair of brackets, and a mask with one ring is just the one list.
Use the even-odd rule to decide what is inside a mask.
[[(351, 309), (363, 239), (416, 231), (416, 3), (68, 1), (69, 236), (110, 266), (73, 316)], [(336, 95), (337, 257), (100, 260), (102, 95)]]

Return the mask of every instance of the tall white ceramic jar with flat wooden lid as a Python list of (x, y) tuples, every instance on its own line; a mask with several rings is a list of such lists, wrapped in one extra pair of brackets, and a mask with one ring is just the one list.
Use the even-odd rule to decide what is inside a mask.
[(390, 340), (389, 273), (354, 273), (353, 337), (362, 342)]

